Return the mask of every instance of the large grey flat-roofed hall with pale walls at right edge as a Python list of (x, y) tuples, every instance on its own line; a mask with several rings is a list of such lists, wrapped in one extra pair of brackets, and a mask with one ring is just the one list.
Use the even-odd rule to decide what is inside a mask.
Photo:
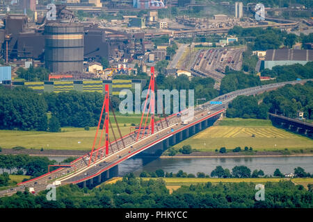
[(266, 51), (264, 69), (272, 69), (276, 65), (305, 65), (313, 61), (313, 50), (301, 49), (269, 49)]

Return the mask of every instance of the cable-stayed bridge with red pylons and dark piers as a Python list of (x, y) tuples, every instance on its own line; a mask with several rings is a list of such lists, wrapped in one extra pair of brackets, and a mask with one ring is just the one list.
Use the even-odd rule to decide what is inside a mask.
[[(312, 80), (312, 79), (311, 79)], [(154, 118), (155, 101), (154, 96), (150, 96), (149, 108), (144, 110), (141, 123), (138, 128), (122, 136), (120, 130), (118, 130), (120, 137), (116, 139), (116, 135), (113, 132), (115, 138), (114, 142), (109, 141), (109, 126), (111, 121), (109, 119), (109, 87), (105, 87), (104, 103), (102, 105), (102, 113), (99, 118), (97, 126), (97, 133), (93, 142), (90, 153), (79, 157), (77, 160), (72, 161), (68, 165), (61, 165), (58, 169), (50, 171), (45, 175), (38, 178), (33, 178), (25, 182), (21, 182), (17, 187), (12, 189), (0, 191), (0, 196), (12, 195), (17, 191), (24, 191), (26, 187), (33, 187), (35, 192), (45, 190), (47, 185), (52, 184), (54, 181), (61, 181), (61, 185), (78, 184), (81, 187), (98, 185), (109, 178), (118, 176), (118, 164), (121, 162), (141, 153), (143, 151), (155, 151), (161, 149), (164, 151), (169, 146), (175, 145), (182, 140), (195, 135), (196, 133), (204, 130), (212, 125), (212, 123), (220, 117), (225, 111), (227, 104), (230, 103), (236, 96), (239, 95), (252, 95), (259, 94), (265, 91), (270, 91), (282, 87), (286, 84), (305, 83), (307, 80), (296, 80), (284, 83), (274, 83), (270, 85), (263, 85), (258, 87), (251, 87), (248, 89), (240, 89), (222, 96), (218, 96), (212, 101), (222, 101), (223, 104), (209, 102), (202, 104), (199, 107), (194, 108), (193, 118), (189, 118), (188, 121), (182, 121), (181, 116), (185, 112), (180, 114), (172, 114), (168, 117), (163, 115), (156, 121)], [(154, 80), (154, 67), (152, 67), (152, 76), (150, 79), (150, 85), (148, 87), (148, 94), (154, 94), (154, 89), (157, 89)], [(145, 108), (147, 105), (147, 98), (145, 101)], [(151, 110), (151, 117), (148, 118), (148, 114)], [(145, 113), (145, 111), (147, 111)], [(186, 110), (185, 110), (186, 111)], [(114, 114), (114, 110), (111, 109)], [(104, 121), (102, 116), (104, 115)], [(115, 119), (115, 123), (118, 126), (118, 122)], [(149, 120), (150, 119), (150, 120)], [(103, 123), (102, 123), (103, 122)], [(102, 128), (100, 127), (102, 125)], [(100, 137), (98, 138), (98, 134)], [(104, 142), (104, 145), (102, 145)]]

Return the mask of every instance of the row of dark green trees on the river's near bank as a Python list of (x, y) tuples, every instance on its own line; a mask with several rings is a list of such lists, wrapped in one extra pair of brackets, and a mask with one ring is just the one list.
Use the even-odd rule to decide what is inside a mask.
[[(298, 178), (307, 178), (313, 176), (310, 173), (306, 173), (305, 169), (301, 167), (296, 167), (294, 169), (294, 175)], [(162, 169), (157, 169), (155, 172), (147, 172), (147, 171), (142, 171), (140, 174), (141, 178), (209, 178), (209, 177), (217, 177), (217, 178), (259, 178), (260, 176), (265, 176), (266, 178), (271, 177), (268, 175), (264, 175), (264, 171), (262, 169), (257, 170), (255, 169), (254, 171), (251, 171), (248, 167), (246, 166), (236, 166), (232, 168), (232, 173), (230, 172), (229, 169), (218, 166), (216, 169), (211, 171), (210, 174), (205, 174), (203, 172), (198, 172), (196, 175), (193, 173), (186, 173), (182, 170), (178, 171), (177, 173), (172, 173), (172, 172), (164, 172)], [(280, 169), (275, 169), (273, 176), (279, 177), (279, 178), (284, 178), (284, 174), (280, 172)]]

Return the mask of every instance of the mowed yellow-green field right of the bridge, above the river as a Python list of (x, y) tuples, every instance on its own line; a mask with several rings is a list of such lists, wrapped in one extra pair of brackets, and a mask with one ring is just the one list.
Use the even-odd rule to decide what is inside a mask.
[[(254, 137), (252, 137), (254, 135)], [(262, 119), (224, 119), (218, 126), (207, 130), (175, 145), (191, 145), (199, 151), (215, 151), (216, 148), (252, 147), (257, 151), (288, 149), (313, 150), (313, 140), (287, 130), (275, 128), (271, 121)]]

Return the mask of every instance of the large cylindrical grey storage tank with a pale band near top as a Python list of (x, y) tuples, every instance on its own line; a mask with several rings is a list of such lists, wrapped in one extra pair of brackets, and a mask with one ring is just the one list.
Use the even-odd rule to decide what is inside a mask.
[(45, 25), (45, 67), (51, 72), (83, 72), (83, 25)]

